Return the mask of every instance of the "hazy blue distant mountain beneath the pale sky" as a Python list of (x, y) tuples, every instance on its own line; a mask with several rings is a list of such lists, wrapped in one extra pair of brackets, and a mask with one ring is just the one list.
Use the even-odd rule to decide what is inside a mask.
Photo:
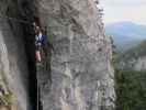
[(119, 51), (126, 51), (146, 40), (146, 25), (133, 22), (117, 22), (105, 26), (106, 35), (112, 35)]

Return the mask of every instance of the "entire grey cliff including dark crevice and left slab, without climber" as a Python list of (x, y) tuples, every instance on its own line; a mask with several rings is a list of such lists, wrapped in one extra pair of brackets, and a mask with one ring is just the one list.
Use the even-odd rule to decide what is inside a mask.
[[(96, 2), (0, 1), (3, 15), (31, 21), (33, 14), (38, 14), (42, 25), (47, 26), (48, 37), (53, 35), (55, 51), (50, 67), (37, 70), (41, 110), (114, 109), (111, 42), (104, 35)], [(36, 110), (34, 36), (30, 32), (31, 28), (24, 22), (0, 18), (0, 76), (1, 80), (3, 75), (7, 78), (3, 85), (15, 96), (18, 110)]]

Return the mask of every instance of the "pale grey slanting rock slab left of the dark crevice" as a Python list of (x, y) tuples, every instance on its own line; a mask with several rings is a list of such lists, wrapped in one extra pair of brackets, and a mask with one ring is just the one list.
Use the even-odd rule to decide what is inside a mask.
[[(0, 19), (0, 84), (14, 95), (18, 110), (27, 110), (27, 67), (21, 38)], [(7, 82), (3, 81), (7, 78)], [(15, 99), (16, 98), (16, 99)]]

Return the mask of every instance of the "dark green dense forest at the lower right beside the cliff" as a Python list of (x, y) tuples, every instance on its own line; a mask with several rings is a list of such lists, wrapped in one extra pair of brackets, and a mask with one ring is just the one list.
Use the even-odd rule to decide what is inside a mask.
[(146, 110), (146, 72), (115, 70), (116, 110)]

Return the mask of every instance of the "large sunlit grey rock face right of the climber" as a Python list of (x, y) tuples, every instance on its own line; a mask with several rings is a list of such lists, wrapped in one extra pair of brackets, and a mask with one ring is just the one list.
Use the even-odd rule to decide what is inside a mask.
[(94, 1), (38, 0), (36, 4), (55, 47), (52, 72), (40, 78), (43, 110), (113, 110), (111, 43)]

